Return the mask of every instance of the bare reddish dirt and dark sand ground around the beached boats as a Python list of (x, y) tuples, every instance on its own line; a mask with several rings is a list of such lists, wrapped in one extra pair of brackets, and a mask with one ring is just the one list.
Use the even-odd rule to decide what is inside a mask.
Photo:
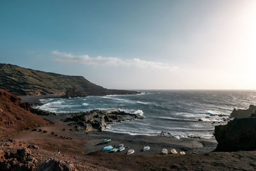
[[(38, 163), (54, 158), (73, 163), (77, 170), (255, 170), (256, 168), (255, 151), (212, 152), (216, 147), (214, 139), (177, 139), (109, 131), (85, 133), (76, 131), (75, 128), (68, 126), (68, 123), (61, 121), (65, 119), (64, 115), (42, 117), (51, 120), (54, 124), (38, 126), (34, 131), (24, 130), (9, 137), (12, 139), (11, 142), (16, 144), (12, 147), (12, 151), (19, 149), (20, 144), (25, 147), (37, 145), (38, 149), (31, 149), (31, 154)], [(129, 147), (123, 152), (103, 152), (102, 148), (106, 146), (100, 145), (103, 138), (111, 138), (109, 145), (125, 144), (125, 147)], [(0, 149), (9, 151), (10, 146), (6, 142), (8, 140), (4, 141)], [(141, 151), (145, 145), (150, 145), (150, 151)], [(186, 151), (186, 155), (170, 153), (159, 155), (161, 148), (167, 148), (168, 152), (172, 148), (177, 149), (178, 152)], [(134, 154), (125, 154), (128, 149), (134, 149)], [(60, 151), (60, 154), (56, 151)], [(191, 151), (199, 154), (190, 154)]]

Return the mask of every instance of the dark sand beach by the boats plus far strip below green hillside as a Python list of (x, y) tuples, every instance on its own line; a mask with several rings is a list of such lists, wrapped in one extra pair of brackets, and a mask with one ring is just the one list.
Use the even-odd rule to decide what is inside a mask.
[[(109, 96), (109, 95), (106, 95)], [(31, 104), (40, 103), (40, 100), (49, 98), (61, 98), (61, 95), (41, 95), (41, 96), (19, 96), (22, 101)], [(54, 122), (61, 122), (67, 118), (65, 115), (58, 116), (43, 116)], [(68, 124), (68, 123), (67, 123)], [(133, 147), (136, 150), (135, 154), (154, 155), (160, 154), (161, 149), (175, 148), (177, 151), (185, 151), (190, 154), (195, 151), (197, 153), (211, 152), (216, 148), (217, 142), (215, 138), (175, 138), (161, 135), (129, 135), (128, 133), (116, 133), (109, 130), (103, 132), (91, 131), (85, 133), (83, 131), (74, 131), (74, 135), (81, 138), (88, 138), (84, 149), (87, 153), (101, 151), (104, 145), (95, 145), (102, 141), (103, 138), (111, 138), (113, 144), (127, 144), (128, 147)], [(150, 145), (151, 149), (147, 152), (141, 152), (144, 146)], [(138, 152), (138, 153), (137, 153)], [(121, 152), (124, 153), (124, 152)]]

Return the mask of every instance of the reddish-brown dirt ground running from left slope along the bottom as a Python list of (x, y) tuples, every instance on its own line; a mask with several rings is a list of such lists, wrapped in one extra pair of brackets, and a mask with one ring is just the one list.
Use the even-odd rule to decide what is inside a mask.
[[(65, 128), (65, 131), (63, 131)], [(109, 154), (102, 151), (86, 154), (84, 145), (86, 138), (76, 137), (67, 123), (60, 121), (54, 126), (42, 127), (47, 133), (26, 130), (13, 137), (15, 140), (26, 144), (36, 144), (43, 152), (43, 156), (62, 156), (74, 159), (79, 170), (85, 166), (113, 170), (255, 170), (256, 151), (239, 152), (209, 152), (205, 154), (169, 154), (167, 156)], [(58, 137), (51, 135), (51, 131), (58, 134)], [(72, 140), (60, 138), (60, 136), (72, 137)], [(56, 154), (60, 150), (61, 154)], [(43, 157), (46, 158), (46, 157)], [(86, 163), (86, 165), (84, 165)]]

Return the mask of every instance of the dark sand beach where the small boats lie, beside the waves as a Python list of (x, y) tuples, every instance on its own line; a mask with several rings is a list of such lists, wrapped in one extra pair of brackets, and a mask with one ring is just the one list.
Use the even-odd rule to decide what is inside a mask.
[[(44, 116), (45, 119), (49, 119), (61, 125), (67, 125), (68, 123), (63, 123), (62, 120), (65, 116)], [(76, 130), (76, 128), (72, 128)], [(102, 151), (106, 144), (102, 144), (104, 138), (111, 139), (111, 145), (117, 146), (118, 144), (124, 144), (125, 151), (118, 152), (120, 154), (126, 154), (128, 149), (134, 149), (134, 155), (157, 155), (161, 154), (163, 148), (177, 149), (178, 152), (185, 151), (186, 154), (191, 154), (191, 152), (205, 153), (211, 152), (216, 149), (217, 142), (215, 138), (205, 139), (205, 138), (174, 138), (166, 136), (148, 136), (148, 135), (129, 135), (127, 133), (115, 133), (111, 131), (90, 131), (88, 133), (83, 131), (72, 131), (72, 135), (78, 138), (86, 139), (86, 144), (83, 145), (83, 149), (86, 154), (92, 152)], [(141, 151), (144, 146), (150, 146), (150, 151)]]

